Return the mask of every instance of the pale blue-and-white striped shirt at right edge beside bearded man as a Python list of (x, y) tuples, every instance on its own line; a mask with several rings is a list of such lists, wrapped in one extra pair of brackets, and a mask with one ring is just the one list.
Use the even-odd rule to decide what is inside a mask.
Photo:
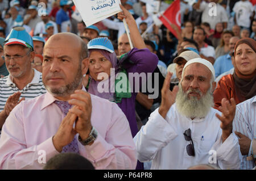
[[(240, 104), (237, 104), (236, 116), (233, 121), (234, 131), (240, 132), (253, 140), (256, 136), (256, 95)], [(243, 155), (240, 169), (248, 170), (255, 167), (255, 160), (247, 161)]]

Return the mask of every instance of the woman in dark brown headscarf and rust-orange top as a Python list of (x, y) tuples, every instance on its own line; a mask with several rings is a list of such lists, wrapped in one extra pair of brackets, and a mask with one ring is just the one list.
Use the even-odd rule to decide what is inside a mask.
[(238, 40), (234, 48), (234, 73), (225, 75), (213, 92), (214, 108), (221, 99), (234, 98), (236, 104), (256, 95), (256, 42), (250, 38)]

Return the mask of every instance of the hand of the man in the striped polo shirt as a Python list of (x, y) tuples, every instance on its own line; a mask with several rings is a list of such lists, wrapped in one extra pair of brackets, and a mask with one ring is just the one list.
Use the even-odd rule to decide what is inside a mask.
[(19, 97), (21, 95), (21, 92), (15, 92), (13, 95), (11, 95), (5, 104), (5, 108), (3, 111), (5, 112), (5, 116), (8, 117), (10, 112), (13, 110), (15, 106), (17, 106), (22, 100), (25, 100), (25, 98), (21, 98), (19, 100)]

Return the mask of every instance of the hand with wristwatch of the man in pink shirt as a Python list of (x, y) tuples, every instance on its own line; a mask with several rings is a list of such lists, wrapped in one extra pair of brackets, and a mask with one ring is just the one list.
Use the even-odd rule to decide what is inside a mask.
[(75, 130), (82, 140), (85, 140), (88, 138), (90, 131), (92, 131), (92, 124), (90, 123), (92, 101), (90, 94), (83, 90), (76, 90), (75, 94), (71, 95), (71, 100), (68, 103), (73, 105), (69, 112), (77, 116)]

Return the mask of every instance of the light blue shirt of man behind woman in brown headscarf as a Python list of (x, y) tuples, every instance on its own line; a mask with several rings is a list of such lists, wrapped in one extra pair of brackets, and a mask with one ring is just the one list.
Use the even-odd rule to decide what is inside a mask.
[(216, 61), (213, 64), (214, 70), (215, 70), (215, 77), (218, 77), (218, 75), (224, 73), (225, 71), (229, 71), (234, 66), (232, 64), (231, 56), (230, 54), (224, 54), (223, 56), (220, 56), (216, 59)]

